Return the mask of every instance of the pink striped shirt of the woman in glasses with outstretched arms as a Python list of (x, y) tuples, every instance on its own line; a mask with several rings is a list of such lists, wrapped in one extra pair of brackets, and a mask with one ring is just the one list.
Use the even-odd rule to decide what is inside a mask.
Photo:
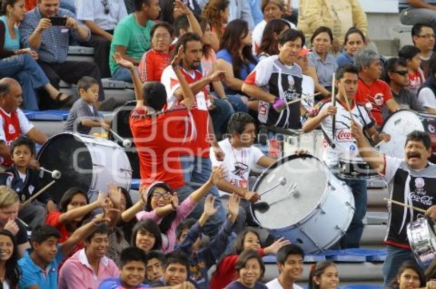
[[(197, 203), (192, 200), (191, 196), (189, 196), (179, 205), (179, 207), (177, 207), (175, 218), (167, 231), (168, 244), (162, 242), (162, 251), (164, 253), (169, 253), (174, 250), (177, 226), (194, 210), (196, 204)], [(157, 224), (160, 224), (163, 219), (157, 216), (156, 210), (151, 212), (141, 211), (136, 214), (136, 218), (138, 220), (152, 219)]]

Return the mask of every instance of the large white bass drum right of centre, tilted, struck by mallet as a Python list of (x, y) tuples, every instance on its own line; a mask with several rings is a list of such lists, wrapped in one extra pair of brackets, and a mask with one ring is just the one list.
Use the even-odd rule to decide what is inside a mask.
[[(281, 180), (286, 179), (284, 185)], [(277, 185), (279, 183), (279, 185)], [(341, 239), (354, 214), (349, 187), (311, 155), (286, 156), (266, 170), (254, 185), (268, 209), (252, 204), (253, 219), (276, 237), (284, 237), (306, 253), (327, 249)]]

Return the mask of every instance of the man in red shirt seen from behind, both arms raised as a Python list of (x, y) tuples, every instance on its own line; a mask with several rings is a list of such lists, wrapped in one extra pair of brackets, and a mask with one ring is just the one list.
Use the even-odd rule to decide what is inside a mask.
[[(194, 189), (186, 185), (179, 159), (181, 148), (189, 148), (194, 134), (197, 116), (191, 109), (194, 96), (185, 80), (179, 65), (183, 48), (177, 50), (171, 66), (174, 68), (183, 100), (171, 109), (162, 112), (167, 103), (165, 87), (157, 81), (142, 86), (134, 65), (119, 54), (115, 54), (116, 63), (130, 70), (135, 87), (136, 108), (130, 115), (130, 129), (140, 159), (142, 188), (148, 188), (155, 181), (164, 181), (176, 190), (180, 201), (188, 197)], [(202, 214), (204, 201), (199, 202), (193, 214)], [(199, 215), (199, 216), (200, 216)], [(196, 216), (196, 215), (194, 215)], [(205, 225), (208, 235), (215, 234), (221, 227), (218, 217), (210, 218)]]

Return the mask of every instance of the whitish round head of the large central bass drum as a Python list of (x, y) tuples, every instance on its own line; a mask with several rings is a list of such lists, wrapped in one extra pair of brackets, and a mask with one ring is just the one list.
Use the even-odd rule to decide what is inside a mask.
[(254, 219), (264, 228), (286, 228), (306, 218), (321, 202), (328, 182), (327, 169), (318, 158), (292, 155), (272, 164), (257, 180), (253, 191), (262, 194), (283, 178), (284, 185), (262, 195), (259, 201), (266, 202), (268, 210), (260, 212), (252, 207)]

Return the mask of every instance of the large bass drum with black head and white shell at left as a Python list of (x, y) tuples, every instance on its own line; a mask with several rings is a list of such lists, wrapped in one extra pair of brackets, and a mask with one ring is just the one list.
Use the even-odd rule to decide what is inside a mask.
[[(61, 172), (50, 192), (58, 204), (65, 191), (79, 188), (84, 192), (107, 191), (108, 184), (130, 190), (132, 170), (124, 150), (113, 141), (78, 133), (60, 133), (50, 137), (37, 160), (48, 170)], [(43, 185), (52, 181), (44, 174)]]

